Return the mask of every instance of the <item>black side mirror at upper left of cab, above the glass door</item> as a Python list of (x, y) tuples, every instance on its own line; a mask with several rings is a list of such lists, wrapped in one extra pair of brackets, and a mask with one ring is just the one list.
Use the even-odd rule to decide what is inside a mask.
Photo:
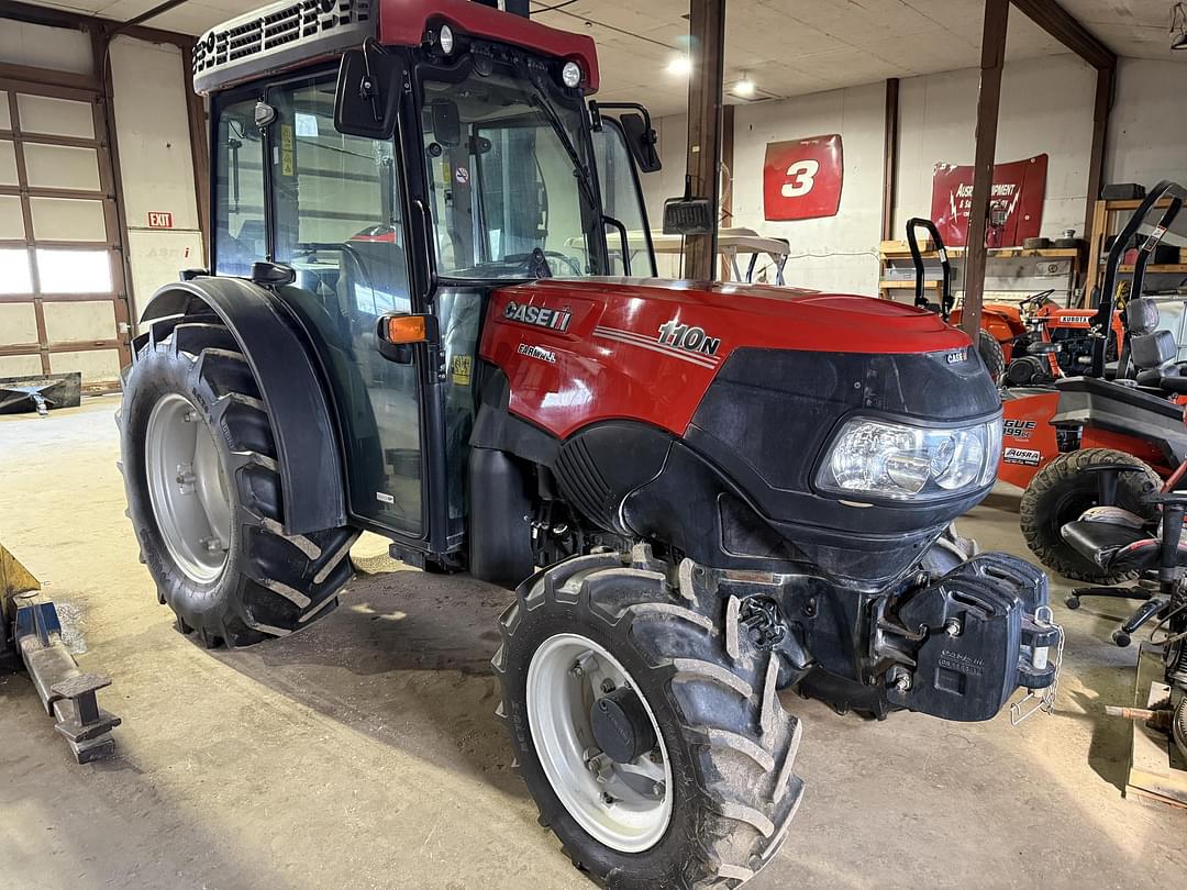
[(343, 52), (334, 97), (335, 129), (349, 136), (391, 139), (405, 71), (399, 56), (379, 47)]

